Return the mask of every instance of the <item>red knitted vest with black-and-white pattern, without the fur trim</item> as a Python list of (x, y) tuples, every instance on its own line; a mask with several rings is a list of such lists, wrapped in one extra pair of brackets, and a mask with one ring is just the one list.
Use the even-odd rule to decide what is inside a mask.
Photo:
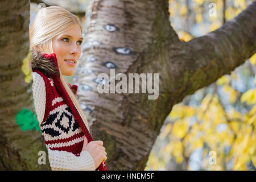
[[(60, 81), (55, 53), (51, 55), (44, 53), (42, 56), (54, 63), (57, 70), (57, 74), (48, 76), (40, 71), (42, 69), (32, 68), (33, 72), (43, 78), (46, 87), (46, 105), (40, 123), (46, 146), (54, 151), (67, 151), (80, 156), (84, 136), (88, 139), (88, 143), (93, 138)], [(76, 96), (77, 85), (68, 85)], [(107, 170), (106, 164), (101, 163), (97, 169)]]

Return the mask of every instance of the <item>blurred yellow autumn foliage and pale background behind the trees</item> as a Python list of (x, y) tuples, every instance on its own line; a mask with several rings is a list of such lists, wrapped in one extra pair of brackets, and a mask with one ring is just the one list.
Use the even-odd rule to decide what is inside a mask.
[[(180, 40), (187, 42), (216, 30), (252, 1), (169, 0), (171, 26)], [(86, 11), (88, 0), (42, 2), (80, 12), (79, 18), (85, 24), (81, 12)], [(31, 2), (31, 20), (38, 8), (38, 3)], [(216, 14), (210, 14), (214, 10)], [(145, 170), (255, 170), (255, 73), (256, 55), (231, 75), (222, 76), (176, 104), (156, 139)], [(64, 77), (72, 83), (72, 76)]]

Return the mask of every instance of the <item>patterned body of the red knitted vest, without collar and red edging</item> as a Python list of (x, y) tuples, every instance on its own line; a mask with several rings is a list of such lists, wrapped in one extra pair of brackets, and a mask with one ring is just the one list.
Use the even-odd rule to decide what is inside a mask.
[(79, 156), (84, 141), (81, 127), (73, 117), (71, 109), (57, 92), (51, 79), (40, 71), (35, 72), (43, 77), (46, 85), (46, 110), (40, 129), (47, 148), (72, 152)]

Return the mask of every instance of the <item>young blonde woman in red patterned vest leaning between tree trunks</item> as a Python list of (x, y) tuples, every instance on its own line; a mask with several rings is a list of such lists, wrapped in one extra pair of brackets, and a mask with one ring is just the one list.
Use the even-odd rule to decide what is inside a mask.
[(52, 170), (107, 170), (101, 140), (90, 135), (71, 76), (81, 54), (77, 16), (59, 6), (40, 9), (31, 22), (32, 92)]

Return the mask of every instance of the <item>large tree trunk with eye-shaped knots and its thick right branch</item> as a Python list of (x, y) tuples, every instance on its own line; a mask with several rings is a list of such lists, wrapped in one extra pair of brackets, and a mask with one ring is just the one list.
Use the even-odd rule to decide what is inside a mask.
[[(104, 141), (108, 169), (144, 169), (172, 106), (255, 53), (255, 19), (256, 1), (218, 30), (180, 42), (169, 22), (167, 0), (90, 3), (74, 82), (94, 139)], [(98, 93), (95, 78), (110, 75), (110, 68), (127, 78), (129, 73), (159, 73), (159, 97), (148, 100), (150, 94), (141, 91)]]

